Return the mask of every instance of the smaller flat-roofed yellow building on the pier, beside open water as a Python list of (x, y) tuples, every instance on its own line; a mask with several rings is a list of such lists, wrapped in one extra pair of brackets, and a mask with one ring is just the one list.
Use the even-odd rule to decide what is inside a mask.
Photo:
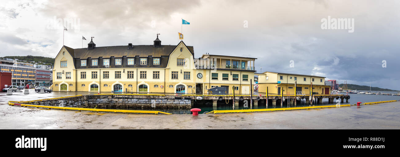
[(297, 83), (296, 91), (298, 94), (310, 94), (311, 83), (312, 92), (314, 94), (330, 94), (330, 86), (325, 85), (325, 77), (319, 77), (314, 75), (301, 75), (301, 74), (289, 74), (289, 73), (275, 73), (275, 72), (264, 72), (258, 75), (258, 91), (266, 92), (268, 87), (268, 93), (281, 94), (295, 94), (295, 82)]

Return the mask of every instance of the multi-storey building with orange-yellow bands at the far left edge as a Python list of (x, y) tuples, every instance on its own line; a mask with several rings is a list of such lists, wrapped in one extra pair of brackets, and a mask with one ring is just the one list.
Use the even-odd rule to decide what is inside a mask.
[(27, 83), (35, 83), (35, 68), (31, 63), (18, 62), (16, 60), (0, 59), (1, 72), (12, 73), (12, 85), (25, 86)]

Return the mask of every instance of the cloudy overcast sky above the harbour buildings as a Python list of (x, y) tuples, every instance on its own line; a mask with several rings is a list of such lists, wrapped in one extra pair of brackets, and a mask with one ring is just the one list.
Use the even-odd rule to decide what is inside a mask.
[[(194, 46), (195, 57), (255, 57), (257, 72), (262, 67), (400, 90), (399, 2), (0, 0), (0, 56), (55, 57), (63, 44), (62, 26), (55, 24), (64, 18), (77, 21), (64, 34), (72, 48), (82, 47), (82, 35), (84, 47), (90, 37), (97, 47), (151, 45), (156, 33), (163, 45), (176, 45), (183, 18), (190, 22), (183, 25), (183, 41)], [(354, 19), (354, 32), (322, 29), (328, 16)]]

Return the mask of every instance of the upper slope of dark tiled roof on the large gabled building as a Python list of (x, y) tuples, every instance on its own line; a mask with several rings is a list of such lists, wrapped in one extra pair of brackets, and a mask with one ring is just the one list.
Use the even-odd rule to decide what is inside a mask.
[[(169, 56), (170, 53), (175, 49), (176, 45), (162, 45), (161, 47), (154, 47), (153, 45), (133, 45), (133, 49), (128, 49), (128, 45), (124, 46), (104, 46), (96, 47), (94, 49), (73, 49), (74, 58), (86, 59), (88, 57), (92, 58), (109, 58), (114, 57), (161, 57)], [(187, 46), (189, 51), (194, 54), (193, 46)], [(69, 48), (69, 47), (68, 47)], [(71, 49), (71, 48), (70, 48)], [(70, 50), (68, 50), (70, 51)], [(70, 52), (71, 53), (71, 52)]]

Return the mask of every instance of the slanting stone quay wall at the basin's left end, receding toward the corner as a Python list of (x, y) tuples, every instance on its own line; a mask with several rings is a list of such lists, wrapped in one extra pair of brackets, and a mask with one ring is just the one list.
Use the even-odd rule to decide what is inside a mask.
[(88, 107), (88, 100), (86, 96), (74, 96), (50, 100), (37, 100), (32, 101), (27, 104), (33, 105), (45, 105), (45, 106), (59, 106), (59, 107), (76, 107), (76, 108), (86, 108)]

